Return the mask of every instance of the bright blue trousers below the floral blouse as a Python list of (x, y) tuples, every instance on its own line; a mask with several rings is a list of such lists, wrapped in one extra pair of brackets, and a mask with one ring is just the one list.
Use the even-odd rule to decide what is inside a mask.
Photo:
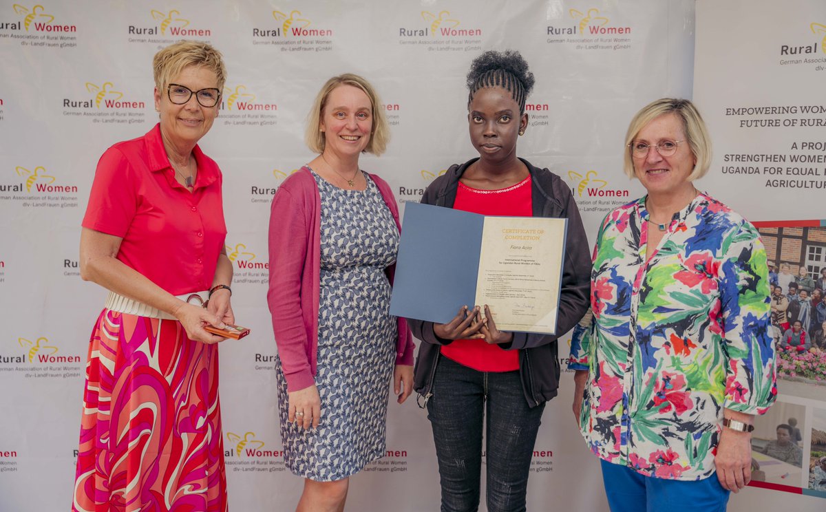
[(703, 480), (668, 480), (601, 462), (611, 512), (724, 512), (729, 502), (716, 473)]

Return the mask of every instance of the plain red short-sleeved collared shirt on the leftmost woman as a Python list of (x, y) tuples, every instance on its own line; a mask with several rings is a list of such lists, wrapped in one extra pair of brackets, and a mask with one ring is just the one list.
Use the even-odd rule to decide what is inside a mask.
[(198, 146), (192, 192), (175, 180), (160, 125), (97, 164), (83, 227), (122, 239), (117, 258), (173, 295), (207, 290), (224, 247), (221, 170)]

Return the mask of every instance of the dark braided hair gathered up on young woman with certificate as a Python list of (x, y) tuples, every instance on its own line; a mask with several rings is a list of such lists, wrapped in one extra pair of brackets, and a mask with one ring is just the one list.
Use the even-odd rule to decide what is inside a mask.
[(489, 50), (473, 59), (468, 71), (468, 108), (473, 95), (481, 88), (501, 87), (510, 92), (519, 105), (520, 116), (525, 113), (525, 100), (534, 88), (534, 73), (515, 50)]

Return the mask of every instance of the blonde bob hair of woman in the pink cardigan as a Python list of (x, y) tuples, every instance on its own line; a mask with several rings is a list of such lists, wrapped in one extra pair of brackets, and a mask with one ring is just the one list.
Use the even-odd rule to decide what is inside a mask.
[(321, 116), (324, 115), (330, 92), (333, 92), (333, 89), (339, 87), (339, 85), (352, 85), (354, 88), (364, 91), (367, 97), (370, 98), (370, 104), (373, 107), (373, 128), (371, 129), (370, 141), (364, 151), (376, 156), (384, 153), (387, 149), (387, 143), (390, 141), (390, 126), (387, 125), (387, 116), (384, 115), (382, 101), (367, 80), (353, 73), (339, 74), (337, 77), (330, 78), (318, 92), (316, 101), (313, 102), (310, 113), (307, 114), (307, 129), (304, 135), (307, 147), (314, 153), (324, 153), (326, 140), (324, 132), (321, 131)]

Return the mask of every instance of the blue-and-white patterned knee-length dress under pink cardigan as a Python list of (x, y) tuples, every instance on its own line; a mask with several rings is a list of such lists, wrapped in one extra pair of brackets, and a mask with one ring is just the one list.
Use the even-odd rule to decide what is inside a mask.
[(287, 381), (277, 365), (284, 461), (315, 481), (353, 475), (386, 449), (397, 327), (384, 269), (396, 261), (399, 234), (378, 187), (365, 177), (366, 190), (344, 190), (313, 172), (321, 197), (318, 429), (287, 421)]

